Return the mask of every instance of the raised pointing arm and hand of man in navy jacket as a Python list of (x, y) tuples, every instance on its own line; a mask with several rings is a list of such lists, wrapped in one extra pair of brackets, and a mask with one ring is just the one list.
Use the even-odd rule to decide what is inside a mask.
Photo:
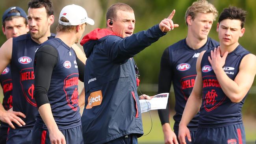
[(111, 60), (115, 63), (123, 63), (130, 57), (134, 57), (144, 50), (147, 46), (158, 41), (158, 39), (168, 31), (177, 28), (179, 25), (173, 24), (171, 20), (174, 13), (175, 10), (173, 10), (168, 18), (163, 19), (158, 25), (146, 31), (140, 31), (124, 39), (114, 36), (110, 43), (108, 43), (108, 55)]

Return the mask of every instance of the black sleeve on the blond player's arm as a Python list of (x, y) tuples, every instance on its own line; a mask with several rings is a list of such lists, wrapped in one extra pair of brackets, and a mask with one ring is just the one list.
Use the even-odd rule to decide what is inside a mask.
[[(158, 94), (164, 92), (170, 92), (171, 88), (171, 64), (169, 60), (169, 50), (165, 49), (161, 57), (160, 64), (160, 74), (158, 81)], [(169, 123), (169, 114), (170, 114), (170, 96), (167, 102), (166, 109), (159, 109), (158, 115), (161, 121), (161, 124)]]

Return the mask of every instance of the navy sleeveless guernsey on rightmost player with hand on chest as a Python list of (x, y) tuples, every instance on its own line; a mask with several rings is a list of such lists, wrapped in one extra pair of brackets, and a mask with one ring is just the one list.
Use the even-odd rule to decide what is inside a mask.
[[(234, 51), (228, 54), (223, 70), (230, 79), (234, 80), (236, 78), (241, 60), (247, 54), (250, 54), (250, 52), (241, 45), (238, 45)], [(241, 124), (243, 123), (241, 108), (246, 96), (239, 103), (231, 102), (221, 89), (211, 68), (208, 61), (208, 56), (210, 55), (210, 50), (207, 50), (201, 62), (203, 89), (198, 127), (223, 127)]]

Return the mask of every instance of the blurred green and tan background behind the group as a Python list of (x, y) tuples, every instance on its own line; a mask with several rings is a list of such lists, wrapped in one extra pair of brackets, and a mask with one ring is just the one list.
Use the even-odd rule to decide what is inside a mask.
[[(11, 6), (19, 6), (26, 12), (28, 10), (29, 0), (2, 0), (0, 2), (0, 16), (4, 11)], [(109, 6), (116, 2), (123, 2), (130, 5), (134, 9), (135, 13), (135, 31), (134, 33), (147, 30), (151, 26), (158, 24), (163, 18), (169, 16), (173, 9), (176, 9), (173, 21), (179, 24), (179, 28), (167, 33), (159, 41), (155, 42), (139, 54), (134, 59), (138, 65), (140, 72), (140, 90), (143, 94), (155, 95), (158, 89), (158, 74), (160, 70), (160, 59), (165, 48), (169, 45), (184, 39), (187, 35), (187, 26), (185, 23), (185, 12), (188, 6), (190, 6), (195, 0), (52, 0), (54, 4), (54, 17), (55, 22), (51, 26), (51, 32), (56, 32), (56, 26), (58, 24), (59, 12), (61, 9), (69, 4), (77, 4), (84, 7), (90, 18), (95, 20), (95, 25), (87, 25), (85, 27), (85, 34), (95, 28), (106, 28), (106, 11)], [(245, 34), (239, 39), (239, 43), (247, 50), (256, 54), (256, 1), (255, 0), (208, 0), (213, 4), (219, 13), (224, 7), (237, 6), (245, 9), (248, 14), (245, 23)], [(218, 19), (218, 17), (217, 17)], [(2, 21), (2, 20), (1, 20)], [(209, 36), (215, 40), (218, 40), (218, 34), (216, 32), (217, 21), (213, 22)], [(2, 45), (6, 41), (6, 37), (0, 32), (0, 44)], [(78, 44), (80, 45), (80, 44)], [(81, 46), (82, 48), (82, 46)], [(82, 85), (82, 83), (80, 83)], [(81, 89), (80, 89), (81, 90)], [(140, 92), (139, 92), (140, 93)], [(256, 81), (250, 89), (249, 95), (243, 105), (243, 122), (246, 130), (247, 143), (255, 143), (256, 139)], [(174, 108), (174, 94), (171, 89), (171, 109)], [(2, 102), (2, 92), (0, 92), (0, 101)], [(170, 120), (172, 120), (174, 112), (171, 112)], [(151, 115), (151, 116), (150, 116)], [(152, 121), (151, 121), (151, 118)], [(173, 126), (173, 121), (171, 121)], [(147, 134), (151, 127), (151, 132), (139, 138), (139, 143), (142, 144), (162, 144), (163, 133), (161, 130), (160, 120), (158, 118), (157, 111), (151, 111), (151, 113), (143, 113), (143, 127), (144, 132)]]

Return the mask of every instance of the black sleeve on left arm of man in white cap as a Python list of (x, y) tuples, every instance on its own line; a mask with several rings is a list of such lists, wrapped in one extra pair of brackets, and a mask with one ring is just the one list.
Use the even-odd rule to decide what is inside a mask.
[(35, 89), (34, 98), (39, 108), (45, 103), (49, 103), (48, 90), (50, 87), (52, 70), (58, 62), (57, 50), (50, 45), (42, 46), (35, 54), (34, 74)]

